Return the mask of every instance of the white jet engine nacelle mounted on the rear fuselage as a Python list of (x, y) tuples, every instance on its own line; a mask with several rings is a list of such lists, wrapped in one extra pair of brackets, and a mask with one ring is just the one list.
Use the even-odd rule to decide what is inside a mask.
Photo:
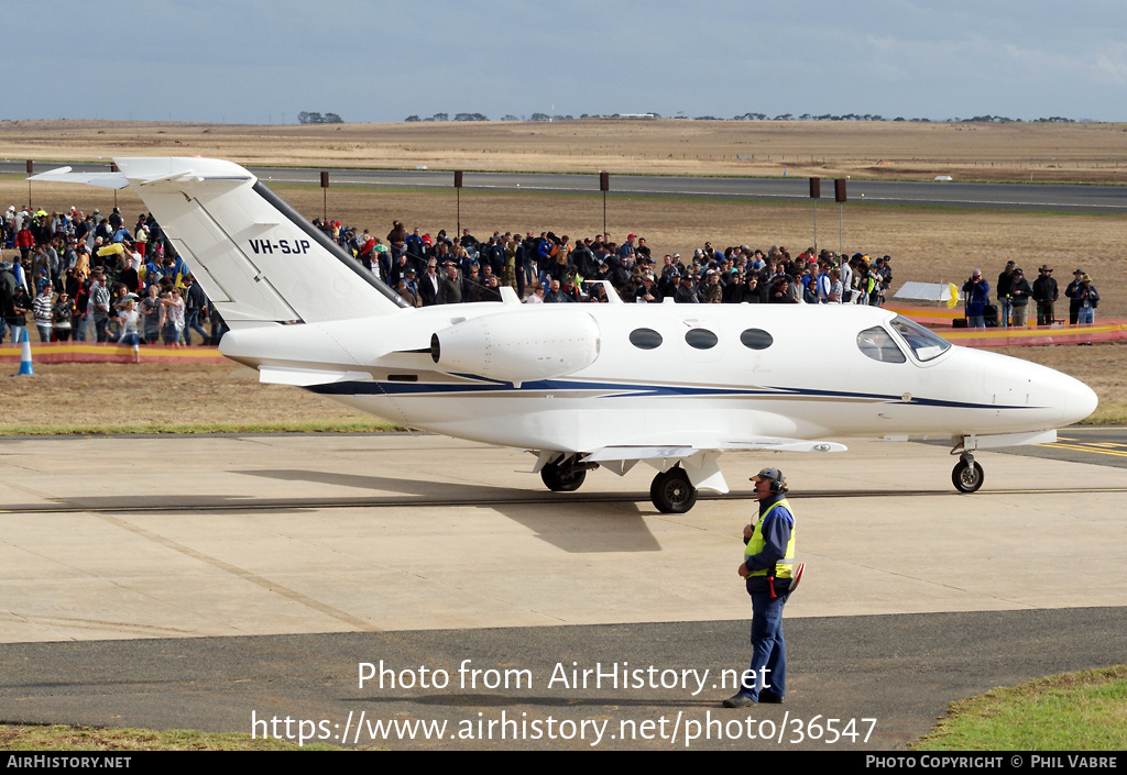
[(431, 357), (447, 373), (521, 383), (586, 368), (598, 357), (598, 324), (574, 309), (522, 309), (471, 318), (431, 337)]

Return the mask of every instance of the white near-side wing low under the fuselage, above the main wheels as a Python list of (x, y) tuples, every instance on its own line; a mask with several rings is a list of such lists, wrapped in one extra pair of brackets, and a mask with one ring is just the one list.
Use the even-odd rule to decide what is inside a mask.
[(638, 461), (667, 471), (680, 464), (695, 488), (728, 492), (728, 483), (720, 472), (720, 453), (734, 449), (770, 449), (773, 452), (845, 452), (844, 444), (810, 442), (800, 438), (758, 436), (728, 440), (701, 440), (686, 445), (642, 446), (620, 445), (602, 447), (584, 456), (583, 463), (598, 463), (620, 476)]

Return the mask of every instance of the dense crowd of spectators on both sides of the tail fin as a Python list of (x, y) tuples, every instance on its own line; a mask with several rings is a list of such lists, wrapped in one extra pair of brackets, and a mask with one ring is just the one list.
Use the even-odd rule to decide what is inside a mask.
[[(784, 247), (720, 250), (704, 242), (691, 257), (658, 258), (632, 233), (621, 243), (610, 234), (573, 242), (551, 231), (478, 240), (463, 229), (454, 239), (397, 221), (380, 239), (335, 221), (313, 224), (412, 306), (499, 301), (504, 285), (526, 303), (545, 304), (606, 302), (611, 292), (641, 303), (879, 305), (891, 282), (888, 256), (813, 248), (791, 256)], [(11, 206), (0, 228), (0, 341), (9, 330), (17, 341), (28, 315), (41, 341), (178, 347), (190, 346), (193, 332), (201, 345), (218, 344), (225, 330), (151, 215), (128, 225), (116, 207), (103, 216)]]

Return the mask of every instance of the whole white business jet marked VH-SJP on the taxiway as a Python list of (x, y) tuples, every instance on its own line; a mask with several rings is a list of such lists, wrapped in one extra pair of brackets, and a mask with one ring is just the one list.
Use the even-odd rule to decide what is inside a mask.
[(729, 449), (911, 437), (950, 439), (955, 487), (974, 492), (977, 449), (1053, 442), (1097, 404), (1070, 376), (876, 308), (524, 305), (503, 288), (502, 302), (416, 310), (234, 163), (116, 163), (33, 179), (133, 185), (231, 327), (223, 355), (261, 382), (530, 449), (556, 491), (644, 461), (654, 505), (683, 513), (699, 489), (728, 491)]

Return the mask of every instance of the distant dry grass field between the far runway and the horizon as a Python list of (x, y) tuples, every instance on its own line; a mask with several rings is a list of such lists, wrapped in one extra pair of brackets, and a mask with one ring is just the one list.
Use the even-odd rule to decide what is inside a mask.
[(909, 122), (0, 122), (0, 158), (265, 166), (1127, 182), (1127, 125)]

